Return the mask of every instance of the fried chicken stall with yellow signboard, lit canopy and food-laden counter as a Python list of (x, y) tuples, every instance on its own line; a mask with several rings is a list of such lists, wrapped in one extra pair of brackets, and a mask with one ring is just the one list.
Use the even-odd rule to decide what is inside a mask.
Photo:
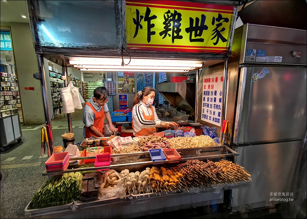
[[(65, 152), (53, 153), (46, 161), (43, 176), (51, 177), (34, 194), (25, 212), (31, 216), (54, 214), (62, 218), (122, 214), (140, 217), (148, 211), (158, 213), (223, 203), (224, 191), (248, 186), (249, 172), (230, 161), (238, 152), (224, 144), (224, 140), (219, 143), (209, 134), (204, 135), (205, 131), (196, 131), (210, 129), (197, 123), (200, 114), (196, 109), (200, 102), (196, 97), (203, 87), (203, 81), (199, 81), (200, 69), (223, 62), (225, 80), (220, 81), (221, 109), (216, 116), (219, 121), (215, 121), (218, 131), (225, 119), (227, 60), (238, 2), (92, 3), (72, 1), (58, 5), (28, 1), (40, 67), (34, 77), (41, 80), (51, 136), (43, 57), (63, 66), (65, 87), (67, 67), (96, 71), (195, 71), (195, 83), (157, 86), (171, 104), (182, 109), (182, 114), (177, 110), (170, 119), (186, 127), (159, 130), (152, 136), (134, 139), (89, 138), (79, 148), (68, 145)], [(81, 14), (77, 13), (80, 7)], [(97, 20), (104, 21), (99, 24), (103, 31), (94, 22)], [(58, 26), (59, 23), (65, 26)], [(168, 28), (172, 25), (173, 30)], [(85, 30), (78, 32), (79, 35), (70, 34), (80, 30), (80, 26)], [(69, 133), (73, 133), (69, 115), (68, 124)]]

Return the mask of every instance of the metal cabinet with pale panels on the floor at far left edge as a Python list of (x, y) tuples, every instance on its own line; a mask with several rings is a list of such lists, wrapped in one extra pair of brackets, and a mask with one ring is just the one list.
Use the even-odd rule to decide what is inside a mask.
[(0, 111), (0, 149), (5, 151), (9, 149), (11, 144), (14, 141), (21, 142), (21, 126), (19, 122), (18, 109), (4, 109)]

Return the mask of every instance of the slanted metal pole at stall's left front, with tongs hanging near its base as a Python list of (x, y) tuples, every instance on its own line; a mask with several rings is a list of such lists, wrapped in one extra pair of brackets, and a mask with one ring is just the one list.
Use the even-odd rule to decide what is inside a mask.
[[(43, 105), (44, 105), (44, 112), (45, 112), (45, 121), (46, 125), (50, 126), (50, 133), (51, 133), (51, 139), (53, 139), (52, 134), (52, 125), (51, 125), (51, 116), (50, 116), (50, 108), (49, 108), (49, 99), (48, 99), (48, 90), (47, 90), (47, 81), (46, 81), (46, 72), (45, 72), (45, 66), (44, 66), (44, 57), (42, 55), (37, 55), (38, 60), (38, 67), (39, 67), (39, 73), (34, 74), (34, 78), (41, 80), (41, 93), (43, 96)], [(51, 141), (51, 146), (53, 147), (53, 141)], [(53, 148), (50, 150), (50, 155), (53, 153)]]

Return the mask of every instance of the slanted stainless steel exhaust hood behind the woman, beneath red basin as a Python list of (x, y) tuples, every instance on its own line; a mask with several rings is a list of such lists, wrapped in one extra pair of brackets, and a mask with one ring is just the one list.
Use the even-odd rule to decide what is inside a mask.
[(172, 105), (195, 113), (195, 83), (157, 84), (156, 91)]

